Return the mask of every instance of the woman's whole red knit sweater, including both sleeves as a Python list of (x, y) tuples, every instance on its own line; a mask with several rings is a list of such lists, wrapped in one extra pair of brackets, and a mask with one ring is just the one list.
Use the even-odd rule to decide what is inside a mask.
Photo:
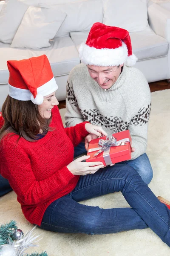
[(71, 192), (79, 180), (66, 167), (74, 157), (74, 146), (88, 134), (82, 122), (64, 128), (58, 107), (52, 110), (55, 128), (40, 140), (28, 142), (18, 135), (4, 139), (0, 149), (0, 173), (17, 194), (26, 219), (40, 225), (45, 209)]

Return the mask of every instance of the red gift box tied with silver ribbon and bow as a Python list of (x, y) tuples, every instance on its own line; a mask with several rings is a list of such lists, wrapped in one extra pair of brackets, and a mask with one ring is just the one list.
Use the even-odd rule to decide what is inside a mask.
[[(121, 131), (116, 134), (112, 134), (114, 138), (116, 138), (116, 143), (118, 145), (113, 144), (113, 146), (108, 147), (106, 150), (99, 153), (97, 156), (94, 156), (102, 146), (99, 146), (99, 140), (105, 140), (108, 136), (98, 138), (95, 140), (91, 140), (88, 146), (88, 154), (90, 158), (86, 160), (86, 162), (102, 162), (104, 166), (111, 164), (111, 163), (119, 163), (125, 160), (131, 159), (131, 142), (132, 139), (130, 137), (129, 130)], [(111, 137), (111, 135), (110, 135)], [(112, 137), (112, 138), (113, 138)], [(119, 145), (119, 141), (123, 140), (125, 145)], [(126, 141), (126, 142), (125, 142)], [(115, 141), (114, 141), (115, 142)], [(98, 149), (97, 149), (98, 148)], [(96, 150), (95, 150), (96, 149)], [(95, 150), (95, 151), (92, 151)], [(91, 152), (92, 151), (92, 152)]]

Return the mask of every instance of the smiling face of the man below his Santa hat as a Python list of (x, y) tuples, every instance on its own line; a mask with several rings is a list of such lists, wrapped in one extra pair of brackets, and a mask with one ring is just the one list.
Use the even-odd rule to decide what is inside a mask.
[(98, 67), (94, 65), (87, 65), (88, 72), (92, 79), (94, 79), (102, 89), (109, 89), (117, 81), (123, 64), (114, 67)]

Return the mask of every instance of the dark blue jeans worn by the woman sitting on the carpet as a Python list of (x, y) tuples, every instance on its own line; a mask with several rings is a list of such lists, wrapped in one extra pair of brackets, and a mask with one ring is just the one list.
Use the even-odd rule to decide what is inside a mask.
[[(101, 209), (79, 201), (121, 191), (132, 208)], [(107, 234), (150, 227), (170, 246), (170, 210), (131, 166), (115, 164), (80, 176), (68, 195), (51, 203), (42, 229), (63, 233)]]

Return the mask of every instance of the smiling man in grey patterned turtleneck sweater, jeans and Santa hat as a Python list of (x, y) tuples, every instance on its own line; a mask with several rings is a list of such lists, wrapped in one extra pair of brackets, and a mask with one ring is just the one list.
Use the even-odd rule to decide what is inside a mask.
[[(65, 125), (89, 121), (108, 134), (129, 129), (132, 159), (123, 163), (149, 184), (153, 171), (145, 151), (150, 88), (141, 71), (131, 67), (137, 58), (132, 54), (129, 32), (94, 23), (79, 56), (84, 64), (74, 67), (68, 77)], [(86, 152), (91, 139), (87, 136), (75, 148), (75, 157)]]

